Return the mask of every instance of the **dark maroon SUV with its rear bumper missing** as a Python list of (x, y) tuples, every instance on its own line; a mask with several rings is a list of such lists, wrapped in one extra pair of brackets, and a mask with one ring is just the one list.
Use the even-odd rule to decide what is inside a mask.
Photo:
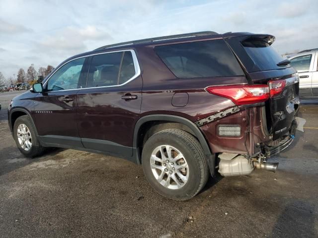
[(45, 147), (122, 157), (186, 200), (216, 171), (275, 171), (266, 159), (292, 142), (299, 77), (274, 40), (196, 32), (103, 46), (15, 97), (9, 126), (27, 157)]

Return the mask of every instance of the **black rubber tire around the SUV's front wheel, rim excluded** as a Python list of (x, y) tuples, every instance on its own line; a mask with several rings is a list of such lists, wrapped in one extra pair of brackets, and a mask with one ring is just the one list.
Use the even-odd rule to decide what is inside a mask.
[[(18, 129), (18, 126), (20, 124), (25, 124), (27, 126), (27, 128), (30, 131), (31, 137), (32, 137), (32, 146), (28, 151), (23, 149), (18, 141), (17, 129)], [(31, 119), (27, 115), (17, 118), (14, 122), (13, 137), (14, 137), (16, 146), (18, 147), (18, 149), (20, 150), (20, 152), (24, 156), (29, 157), (29, 158), (39, 156), (44, 152), (44, 147), (40, 145), (40, 142), (36, 137), (35, 131), (36, 130), (34, 128), (33, 122), (31, 121)]]

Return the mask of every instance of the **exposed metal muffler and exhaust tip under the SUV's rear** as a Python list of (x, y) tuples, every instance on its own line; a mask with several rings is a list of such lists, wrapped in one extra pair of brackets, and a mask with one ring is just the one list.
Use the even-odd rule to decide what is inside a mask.
[(249, 175), (254, 168), (275, 173), (278, 167), (278, 163), (267, 162), (263, 154), (247, 159), (239, 154), (221, 153), (219, 159), (219, 173), (224, 177)]

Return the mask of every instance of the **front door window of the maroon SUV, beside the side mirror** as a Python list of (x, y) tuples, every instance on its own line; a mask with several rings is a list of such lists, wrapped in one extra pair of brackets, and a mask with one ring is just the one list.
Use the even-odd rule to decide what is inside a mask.
[(72, 60), (58, 69), (49, 79), (47, 91), (60, 91), (79, 88), (79, 76), (84, 61), (85, 58)]

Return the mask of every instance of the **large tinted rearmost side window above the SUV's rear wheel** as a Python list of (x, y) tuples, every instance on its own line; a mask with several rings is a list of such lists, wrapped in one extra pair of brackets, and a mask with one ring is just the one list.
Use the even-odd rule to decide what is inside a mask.
[(155, 51), (178, 78), (244, 75), (224, 40), (157, 46)]

